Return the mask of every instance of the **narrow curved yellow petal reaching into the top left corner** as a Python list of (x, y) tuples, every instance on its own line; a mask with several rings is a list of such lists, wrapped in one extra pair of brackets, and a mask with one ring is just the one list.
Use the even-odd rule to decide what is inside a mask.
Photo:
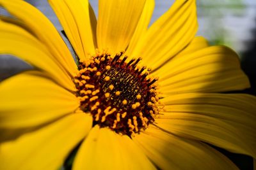
[(59, 63), (68, 73), (75, 75), (76, 63), (65, 42), (48, 18), (25, 1), (0, 0), (0, 6), (3, 6), (12, 15), (22, 20), (23, 24), (35, 34), (36, 38), (49, 48), (49, 51), (52, 53), (52, 60)]

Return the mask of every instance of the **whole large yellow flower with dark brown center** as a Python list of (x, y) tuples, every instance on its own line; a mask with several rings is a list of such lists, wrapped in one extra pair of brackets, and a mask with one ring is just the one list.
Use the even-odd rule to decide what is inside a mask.
[(76, 146), (75, 170), (237, 169), (206, 143), (256, 158), (256, 98), (221, 94), (250, 84), (235, 52), (195, 37), (195, 0), (149, 29), (154, 0), (100, 0), (98, 20), (86, 0), (49, 3), (78, 68), (40, 11), (0, 0), (17, 17), (0, 53), (35, 67), (1, 82), (0, 169), (58, 169)]

